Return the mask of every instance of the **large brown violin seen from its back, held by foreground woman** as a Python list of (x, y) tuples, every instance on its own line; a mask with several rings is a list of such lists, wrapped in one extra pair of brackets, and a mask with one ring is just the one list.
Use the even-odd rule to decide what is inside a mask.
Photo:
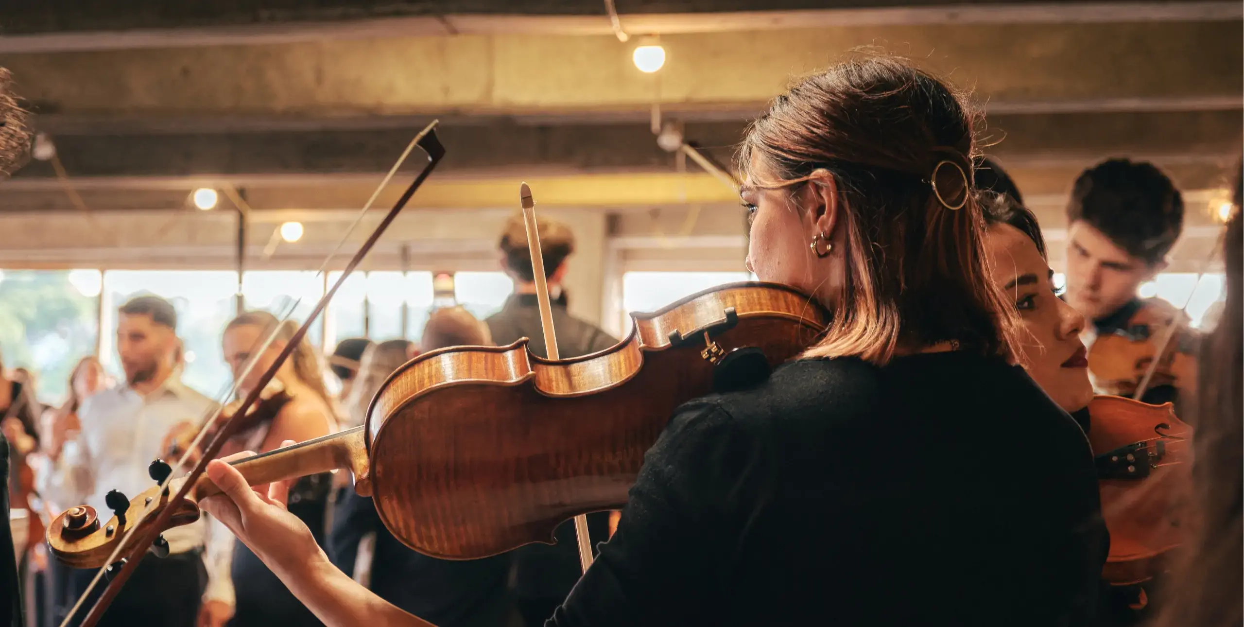
[[(348, 469), (384, 526), (433, 557), (552, 544), (562, 521), (626, 504), (679, 404), (763, 381), (830, 320), (806, 295), (763, 282), (705, 290), (632, 318), (624, 341), (571, 360), (540, 358), (526, 338), (423, 353), (386, 379), (362, 427), (233, 464), (253, 485)], [(170, 488), (180, 489), (177, 481)], [(164, 516), (169, 526), (197, 520), (197, 501), (218, 493), (199, 476)], [(101, 524), (88, 506), (58, 515), (47, 532), (52, 554), (103, 566), (124, 525), (151, 524), (142, 513), (152, 501), (159, 511), (168, 493), (137, 495), (127, 520)]]

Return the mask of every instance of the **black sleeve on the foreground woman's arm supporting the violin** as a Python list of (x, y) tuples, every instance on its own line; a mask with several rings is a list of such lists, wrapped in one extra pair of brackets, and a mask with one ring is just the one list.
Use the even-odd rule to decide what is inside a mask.
[(712, 625), (738, 539), (771, 485), (764, 439), (713, 404), (690, 404), (648, 450), (617, 532), (547, 622)]

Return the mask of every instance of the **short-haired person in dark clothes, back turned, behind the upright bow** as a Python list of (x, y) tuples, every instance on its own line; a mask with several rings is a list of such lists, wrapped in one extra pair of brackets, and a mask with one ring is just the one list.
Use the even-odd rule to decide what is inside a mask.
[[(536, 229), (544, 256), (549, 299), (552, 301), (552, 321), (557, 333), (557, 352), (561, 358), (581, 357), (611, 348), (617, 340), (591, 322), (580, 320), (566, 311), (566, 292), (561, 281), (566, 276), (566, 259), (575, 251), (575, 235), (565, 224), (549, 218), (539, 218)], [(505, 224), (499, 243), (501, 267), (514, 279), (514, 294), (501, 311), (489, 316), (493, 341), (508, 345), (521, 337), (530, 338), (527, 348), (536, 356), (545, 352), (544, 326), (540, 322), (540, 305), (536, 301), (535, 272), (527, 249), (527, 230), (522, 215), (516, 214)], [(587, 525), (593, 551), (596, 545), (610, 536), (610, 514), (587, 515)], [(556, 545), (531, 544), (514, 551), (514, 586), (519, 608), (529, 627), (540, 627), (552, 616), (554, 610), (566, 600), (570, 590), (582, 575), (578, 561), (578, 542), (571, 520), (557, 526)]]

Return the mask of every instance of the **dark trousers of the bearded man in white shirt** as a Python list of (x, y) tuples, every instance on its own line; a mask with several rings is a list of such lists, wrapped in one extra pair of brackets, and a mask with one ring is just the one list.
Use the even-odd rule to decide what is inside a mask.
[[(95, 572), (93, 569), (73, 571), (71, 580), (75, 593), (60, 608), (61, 616), (57, 620), (62, 620), (73, 607), (73, 602), (91, 583)], [(70, 625), (77, 627), (82, 623), (95, 600), (103, 592), (106, 582), (104, 578), (100, 580)], [(208, 571), (198, 551), (169, 555), (164, 559), (148, 554), (138, 562), (133, 576), (103, 613), (100, 627), (194, 627), (207, 586)]]

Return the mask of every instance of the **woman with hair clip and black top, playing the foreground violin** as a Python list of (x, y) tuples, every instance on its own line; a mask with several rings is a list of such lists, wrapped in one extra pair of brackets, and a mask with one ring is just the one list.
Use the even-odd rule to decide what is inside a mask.
[[(749, 266), (833, 312), (804, 358), (683, 406), (554, 626), (1090, 625), (1092, 454), (1008, 360), (973, 116), (903, 62), (779, 97), (743, 144)], [(203, 501), (330, 625), (429, 625), (333, 569), (226, 464)]]

